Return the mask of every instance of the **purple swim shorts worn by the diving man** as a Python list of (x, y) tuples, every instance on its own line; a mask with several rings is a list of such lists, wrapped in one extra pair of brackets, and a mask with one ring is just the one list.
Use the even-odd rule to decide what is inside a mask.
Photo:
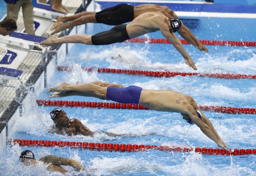
[(138, 104), (141, 91), (142, 88), (138, 86), (129, 86), (125, 88), (108, 87), (107, 98), (118, 103)]

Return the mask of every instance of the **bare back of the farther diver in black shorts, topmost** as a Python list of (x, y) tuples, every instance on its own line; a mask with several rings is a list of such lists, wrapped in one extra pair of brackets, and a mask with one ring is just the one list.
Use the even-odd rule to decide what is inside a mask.
[(134, 6), (134, 18), (145, 12), (161, 12), (168, 18), (178, 18), (178, 16), (167, 6), (159, 6), (156, 4), (141, 4)]

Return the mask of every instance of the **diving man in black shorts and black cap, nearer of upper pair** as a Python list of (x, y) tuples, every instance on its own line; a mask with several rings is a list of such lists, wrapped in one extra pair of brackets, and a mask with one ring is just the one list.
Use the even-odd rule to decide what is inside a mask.
[(62, 37), (50, 36), (50, 38), (41, 41), (40, 45), (53, 46), (64, 43), (82, 43), (86, 45), (108, 45), (118, 42), (124, 42), (128, 39), (137, 38), (139, 36), (161, 31), (161, 34), (172, 43), (172, 46), (181, 53), (185, 59), (185, 63), (197, 70), (192, 58), (182, 46), (181, 41), (177, 38), (174, 32), (181, 29), (182, 23), (178, 18), (166, 17), (160, 12), (145, 12), (136, 17), (129, 24), (120, 24), (113, 27), (111, 30), (101, 32), (95, 35), (88, 34), (73, 34)]

